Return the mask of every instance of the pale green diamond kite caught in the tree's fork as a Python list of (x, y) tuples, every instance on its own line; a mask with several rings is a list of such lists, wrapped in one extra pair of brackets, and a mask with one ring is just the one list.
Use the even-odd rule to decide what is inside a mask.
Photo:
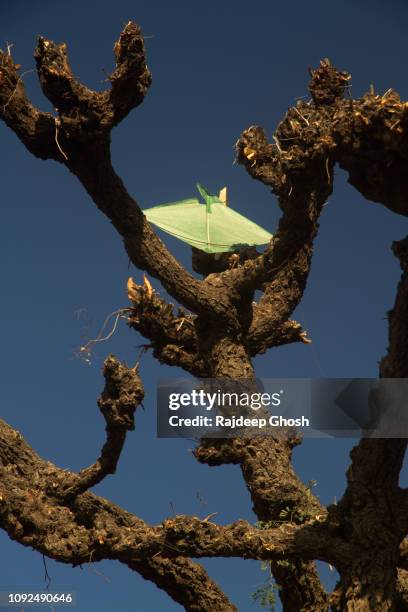
[(218, 195), (199, 184), (197, 188), (204, 204), (189, 198), (147, 208), (143, 212), (149, 223), (206, 253), (239, 251), (270, 241), (272, 234), (227, 206), (225, 187)]

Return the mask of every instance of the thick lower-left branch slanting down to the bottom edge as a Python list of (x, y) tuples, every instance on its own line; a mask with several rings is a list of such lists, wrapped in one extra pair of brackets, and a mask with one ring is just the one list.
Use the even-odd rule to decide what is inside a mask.
[(145, 523), (91, 493), (57, 494), (75, 478), (42, 460), (20, 433), (0, 421), (0, 524), (12, 539), (73, 565), (117, 558), (191, 612), (236, 610), (205, 570), (174, 556), (174, 548), (172, 559), (115, 555), (118, 538), (123, 543), (129, 534), (142, 535)]

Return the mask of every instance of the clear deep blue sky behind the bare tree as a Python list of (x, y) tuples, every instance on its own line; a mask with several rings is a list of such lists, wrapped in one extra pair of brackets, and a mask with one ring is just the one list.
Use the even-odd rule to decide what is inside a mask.
[[(296, 98), (307, 96), (308, 66), (325, 57), (352, 73), (356, 97), (371, 83), (380, 93), (393, 87), (408, 96), (408, 6), (402, 0), (14, 0), (0, 6), (0, 47), (14, 44), (24, 72), (34, 68), (38, 35), (64, 41), (74, 72), (102, 88), (113, 67), (114, 41), (130, 19), (146, 35), (153, 84), (143, 105), (115, 129), (113, 159), (143, 207), (195, 195), (197, 181), (214, 191), (226, 184), (231, 205), (273, 232), (279, 217), (275, 198), (233, 165), (241, 131), (259, 124), (271, 135)], [(51, 110), (35, 72), (24, 81), (33, 100)], [(1, 416), (44, 458), (77, 470), (94, 461), (104, 439), (96, 406), (104, 357), (114, 352), (133, 364), (143, 339), (123, 323), (110, 342), (99, 345), (91, 365), (75, 351), (98, 334), (110, 312), (127, 306), (128, 276), (140, 282), (142, 275), (128, 268), (121, 240), (65, 168), (34, 159), (2, 124), (0, 138)], [(403, 217), (364, 201), (337, 169), (305, 298), (295, 313), (313, 344), (269, 352), (256, 360), (258, 374), (376, 376), (386, 348), (385, 313), (399, 277), (390, 245), (407, 229)], [(189, 266), (189, 247), (166, 241)], [(146, 355), (141, 374), (145, 411), (137, 413), (117, 474), (96, 492), (150, 523), (174, 511), (200, 517), (218, 512), (220, 523), (255, 521), (238, 468), (200, 466), (192, 442), (155, 436), (156, 381), (181, 372)], [(295, 451), (299, 474), (317, 480), (324, 503), (342, 494), (352, 444), (307, 440)], [(43, 590), (41, 556), (3, 532), (0, 545), (0, 590)], [(250, 594), (265, 578), (258, 562), (205, 565), (240, 611), (256, 610)], [(80, 612), (180, 610), (117, 563), (47, 566), (50, 588), (76, 590)], [(322, 572), (332, 584), (333, 574)]]

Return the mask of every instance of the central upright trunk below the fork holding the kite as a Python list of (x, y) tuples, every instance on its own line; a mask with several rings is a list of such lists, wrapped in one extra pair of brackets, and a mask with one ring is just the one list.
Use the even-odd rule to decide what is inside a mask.
[[(211, 375), (214, 378), (254, 380), (250, 356), (238, 341), (220, 336), (212, 344), (206, 338), (204, 344), (207, 345)], [(234, 463), (240, 463), (254, 512), (258, 520), (268, 523), (279, 518), (280, 510), (286, 504), (302, 505), (304, 486), (297, 479), (290, 461), (293, 445), (287, 440), (271, 437), (205, 440), (197, 454), (198, 457), (201, 452), (207, 456), (218, 456), (219, 463), (228, 463), (231, 458), (234, 458)], [(236, 461), (238, 455), (240, 461)], [(282, 494), (283, 483), (286, 483), (285, 494)], [(320, 512), (318, 504), (314, 510), (316, 514)], [(284, 612), (327, 612), (327, 594), (314, 562), (295, 561), (289, 566), (273, 562), (271, 571), (280, 587), (279, 596)]]

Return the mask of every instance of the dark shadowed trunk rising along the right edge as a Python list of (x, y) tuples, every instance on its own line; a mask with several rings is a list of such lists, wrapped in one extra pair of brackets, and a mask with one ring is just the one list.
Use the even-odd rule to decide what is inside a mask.
[[(386, 357), (380, 363), (380, 376), (405, 378), (408, 337), (407, 239), (394, 243), (393, 250), (403, 272), (394, 308), (388, 314), (389, 346)], [(377, 598), (375, 604), (379, 610), (388, 610), (396, 600), (402, 606), (405, 600), (405, 574), (400, 571), (397, 579), (396, 568), (403, 568), (404, 565), (406, 546), (401, 542), (408, 531), (408, 497), (398, 485), (406, 446), (407, 440), (404, 438), (363, 439), (351, 452), (347, 488), (335, 513), (341, 517), (349, 541), (357, 546), (362, 541), (370, 545), (367, 548), (369, 554), (365, 557), (360, 547), (357, 567), (351, 564), (343, 568), (334, 599), (336, 610), (342, 609), (349, 598), (353, 598), (361, 607), (374, 605), (375, 590), (381, 593), (381, 598)], [(375, 564), (372, 563), (373, 556)], [(365, 575), (370, 577), (365, 583), (356, 580), (362, 568)]]

